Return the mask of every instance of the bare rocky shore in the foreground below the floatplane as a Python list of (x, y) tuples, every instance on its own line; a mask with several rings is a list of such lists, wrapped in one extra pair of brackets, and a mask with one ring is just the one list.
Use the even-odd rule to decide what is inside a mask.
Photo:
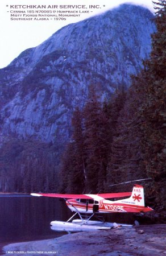
[(2, 255), (166, 255), (166, 224), (67, 234), (49, 240), (11, 243)]

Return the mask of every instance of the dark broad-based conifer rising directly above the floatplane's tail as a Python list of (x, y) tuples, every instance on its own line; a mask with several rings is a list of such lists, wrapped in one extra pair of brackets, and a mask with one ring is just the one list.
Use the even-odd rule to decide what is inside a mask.
[(115, 127), (109, 164), (109, 184), (146, 177), (140, 151), (139, 126), (142, 119), (136, 115), (138, 104), (137, 93), (130, 89)]

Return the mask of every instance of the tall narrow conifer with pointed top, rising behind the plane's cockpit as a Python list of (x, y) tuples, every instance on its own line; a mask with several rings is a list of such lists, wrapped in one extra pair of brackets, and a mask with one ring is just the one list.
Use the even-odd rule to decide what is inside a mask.
[(107, 117), (94, 87), (84, 108), (87, 192), (104, 190), (109, 143), (106, 136)]

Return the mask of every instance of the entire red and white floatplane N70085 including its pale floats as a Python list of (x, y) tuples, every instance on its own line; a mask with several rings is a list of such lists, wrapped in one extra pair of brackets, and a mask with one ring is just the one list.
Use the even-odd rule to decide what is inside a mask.
[[(101, 193), (101, 194), (58, 194), (58, 193), (31, 193), (32, 196), (46, 196), (63, 198), (67, 207), (74, 212), (68, 221), (51, 221), (51, 229), (58, 231), (83, 231), (95, 229), (110, 229), (118, 227), (131, 227), (128, 224), (105, 222), (101, 213), (144, 213), (153, 210), (144, 205), (144, 188), (134, 185), (132, 192)], [(123, 199), (119, 199), (122, 198)], [(118, 199), (111, 201), (108, 199)], [(79, 219), (74, 219), (78, 215)], [(98, 220), (91, 220), (92, 217)]]

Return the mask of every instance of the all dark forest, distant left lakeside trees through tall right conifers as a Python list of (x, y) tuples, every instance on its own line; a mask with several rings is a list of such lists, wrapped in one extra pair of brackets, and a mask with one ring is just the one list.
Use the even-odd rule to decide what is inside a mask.
[(121, 192), (131, 190), (131, 184), (114, 190), (110, 185), (151, 178), (142, 183), (146, 203), (164, 211), (166, 2), (155, 6), (150, 59), (131, 77), (130, 88), (121, 86), (103, 99), (96, 92), (99, 84), (90, 85), (84, 107), (74, 109), (73, 133), (65, 150), (61, 145), (60, 162), (52, 142), (6, 139), (0, 147), (1, 191)]

